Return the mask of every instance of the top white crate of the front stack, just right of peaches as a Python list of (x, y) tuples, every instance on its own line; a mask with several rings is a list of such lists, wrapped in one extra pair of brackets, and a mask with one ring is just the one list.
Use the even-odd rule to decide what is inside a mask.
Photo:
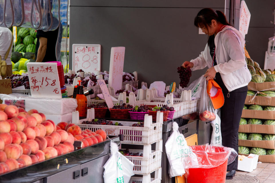
[[(84, 120), (80, 120), (81, 123)], [(152, 116), (146, 114), (144, 116), (144, 127), (132, 127), (132, 124), (136, 122), (127, 121), (112, 121), (113, 123), (118, 122), (124, 126), (115, 125), (91, 125), (91, 124), (77, 124), (81, 130), (89, 129), (95, 132), (98, 129), (102, 129), (107, 135), (117, 136), (119, 134), (124, 135), (123, 144), (140, 144), (149, 145), (162, 139), (162, 124), (163, 124), (163, 113), (157, 113), (156, 123), (152, 122)]]

